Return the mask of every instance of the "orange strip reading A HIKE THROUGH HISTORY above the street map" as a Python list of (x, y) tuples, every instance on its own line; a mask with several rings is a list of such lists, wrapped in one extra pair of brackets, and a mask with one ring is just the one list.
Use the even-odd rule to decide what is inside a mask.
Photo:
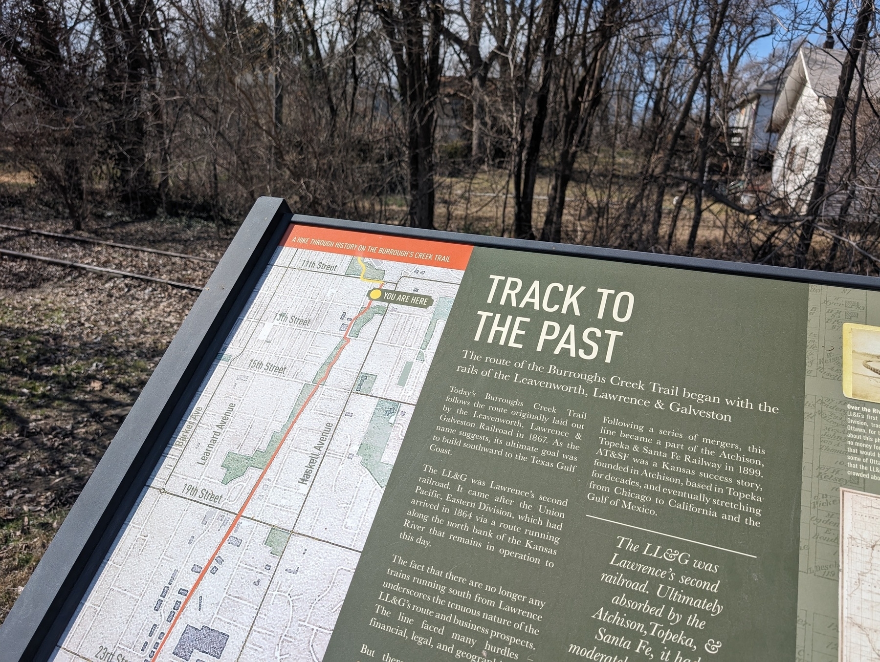
[(309, 251), (388, 259), (422, 266), (444, 266), (461, 271), (467, 268), (473, 250), (470, 244), (450, 244), (428, 239), (411, 239), (406, 236), (379, 235), (296, 224), (290, 225), (284, 233), (281, 244)]

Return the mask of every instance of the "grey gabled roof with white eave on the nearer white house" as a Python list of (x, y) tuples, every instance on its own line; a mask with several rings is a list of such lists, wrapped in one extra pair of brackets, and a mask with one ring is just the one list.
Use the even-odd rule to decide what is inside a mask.
[(839, 48), (800, 47), (782, 75), (785, 82), (776, 99), (769, 129), (781, 133), (803, 89), (808, 85), (819, 98), (834, 98), (840, 80), (840, 67), (846, 56), (847, 51)]

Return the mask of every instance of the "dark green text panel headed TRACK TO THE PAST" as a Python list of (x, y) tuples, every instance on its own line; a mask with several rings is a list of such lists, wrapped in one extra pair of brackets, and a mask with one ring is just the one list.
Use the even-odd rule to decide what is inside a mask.
[(808, 305), (475, 248), (326, 659), (795, 659)]

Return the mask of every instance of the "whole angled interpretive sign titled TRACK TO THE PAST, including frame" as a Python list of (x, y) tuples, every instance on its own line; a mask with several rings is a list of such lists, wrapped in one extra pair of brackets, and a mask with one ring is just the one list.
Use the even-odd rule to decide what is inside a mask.
[(260, 205), (0, 658), (876, 659), (876, 280)]

